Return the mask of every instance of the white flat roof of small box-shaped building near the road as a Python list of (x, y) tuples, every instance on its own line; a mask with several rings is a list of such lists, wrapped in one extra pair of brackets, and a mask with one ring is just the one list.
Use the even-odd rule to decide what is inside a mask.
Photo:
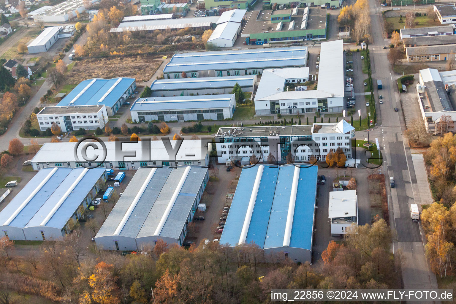
[(329, 192), (328, 218), (358, 216), (356, 190)]

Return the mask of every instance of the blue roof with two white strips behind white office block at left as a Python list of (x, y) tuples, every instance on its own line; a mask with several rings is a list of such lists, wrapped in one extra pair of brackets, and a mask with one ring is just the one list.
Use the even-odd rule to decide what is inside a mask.
[[(104, 94), (109, 91), (109, 89), (115, 84), (115, 82), (117, 82), (119, 78), (122, 78), (122, 80), (120, 80), (120, 82), (111, 90), (111, 92), (105, 98), (103, 98)], [(90, 84), (91, 82), (93, 83)], [(57, 106), (104, 104), (107, 107), (112, 107), (134, 82), (135, 78), (130, 77), (117, 77), (112, 79), (86, 79), (79, 83), (78, 86), (73, 89), (73, 91), (68, 93), (67, 96), (57, 104)], [(76, 98), (78, 94), (81, 93), (86, 87), (87, 89), (84, 91), (84, 93), (82, 93), (76, 100), (74, 100), (74, 103), (71, 103), (73, 99)], [(98, 100), (102, 98), (103, 101), (98, 103)]]

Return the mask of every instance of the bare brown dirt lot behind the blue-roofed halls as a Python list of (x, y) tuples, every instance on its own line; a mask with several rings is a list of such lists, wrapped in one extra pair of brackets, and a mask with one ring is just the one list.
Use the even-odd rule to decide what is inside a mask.
[(67, 73), (67, 84), (79, 83), (89, 78), (114, 77), (134, 77), (137, 82), (145, 82), (161, 65), (161, 61), (155, 59), (145, 56), (82, 59)]

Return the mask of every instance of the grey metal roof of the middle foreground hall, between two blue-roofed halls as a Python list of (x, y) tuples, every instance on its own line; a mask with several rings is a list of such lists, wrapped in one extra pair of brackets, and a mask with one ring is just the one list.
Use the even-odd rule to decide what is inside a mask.
[[(96, 237), (117, 235), (116, 230), (124, 237), (151, 237), (163, 219), (159, 235), (178, 239), (206, 174), (207, 168), (199, 166), (138, 169)], [(174, 201), (181, 180), (183, 185)], [(132, 205), (137, 196), (136, 205)], [(130, 206), (134, 209), (129, 214)], [(168, 206), (171, 211), (166, 214)]]

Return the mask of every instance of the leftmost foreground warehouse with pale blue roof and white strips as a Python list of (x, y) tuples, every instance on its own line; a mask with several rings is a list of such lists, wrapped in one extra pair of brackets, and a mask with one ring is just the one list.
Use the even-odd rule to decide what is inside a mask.
[(88, 208), (105, 182), (104, 168), (40, 170), (0, 212), (1, 229), (10, 240), (62, 239), (79, 206)]

